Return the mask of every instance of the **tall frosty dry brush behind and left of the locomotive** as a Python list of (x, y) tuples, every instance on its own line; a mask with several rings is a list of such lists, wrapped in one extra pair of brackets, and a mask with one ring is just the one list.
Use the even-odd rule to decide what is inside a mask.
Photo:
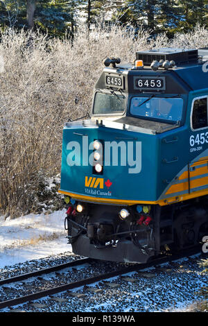
[(40, 33), (6, 31), (0, 55), (0, 204), (12, 216), (35, 211), (40, 175), (60, 172), (62, 127), (69, 118), (85, 116), (92, 103), (94, 83), (107, 56), (121, 62), (135, 59), (135, 51), (153, 46), (207, 46), (208, 31), (166, 35), (148, 40), (114, 26), (88, 35), (80, 27), (73, 46), (67, 39), (47, 40)]

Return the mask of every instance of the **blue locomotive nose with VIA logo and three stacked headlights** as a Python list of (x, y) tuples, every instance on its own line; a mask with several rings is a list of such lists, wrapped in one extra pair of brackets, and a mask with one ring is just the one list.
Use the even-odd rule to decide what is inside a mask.
[(155, 135), (105, 126), (81, 130), (64, 128), (62, 194), (118, 205), (157, 200)]

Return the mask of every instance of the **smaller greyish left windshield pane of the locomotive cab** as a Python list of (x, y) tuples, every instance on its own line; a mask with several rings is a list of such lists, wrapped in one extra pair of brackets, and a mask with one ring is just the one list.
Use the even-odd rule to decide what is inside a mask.
[(94, 114), (121, 114), (125, 110), (125, 96), (122, 94), (96, 93), (94, 99)]

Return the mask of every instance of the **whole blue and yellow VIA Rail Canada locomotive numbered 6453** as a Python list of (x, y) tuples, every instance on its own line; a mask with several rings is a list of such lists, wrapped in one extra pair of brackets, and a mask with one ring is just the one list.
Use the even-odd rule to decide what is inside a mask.
[(207, 60), (169, 48), (105, 60), (90, 119), (63, 130), (74, 253), (146, 263), (208, 235)]

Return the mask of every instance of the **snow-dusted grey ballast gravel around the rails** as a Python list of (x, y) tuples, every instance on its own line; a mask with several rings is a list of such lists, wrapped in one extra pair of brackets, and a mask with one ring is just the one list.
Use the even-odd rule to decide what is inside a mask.
[[(34, 261), (26, 261), (15, 266), (6, 266), (0, 270), (0, 277), (8, 278), (21, 273), (55, 266), (80, 257), (63, 253)], [(20, 304), (2, 311), (25, 312), (155, 312), (155, 311), (202, 311), (208, 312), (206, 293), (208, 275), (202, 273), (198, 262), (200, 254), (179, 259), (163, 265), (146, 268), (119, 277), (81, 286), (73, 291), (62, 293)], [(122, 267), (125, 264), (96, 261), (96, 264), (68, 268), (55, 275), (46, 275), (40, 282), (35, 281), (37, 291), (45, 286), (63, 284), (73, 278), (80, 280), (93, 273), (106, 273), (108, 270)], [(31, 282), (31, 283), (30, 283)], [(70, 282), (70, 281), (69, 281)], [(8, 300), (17, 293), (21, 295), (21, 286), (31, 289), (33, 280), (14, 287), (0, 286), (0, 301)], [(34, 290), (33, 290), (34, 291)], [(208, 291), (207, 291), (208, 292)]]

